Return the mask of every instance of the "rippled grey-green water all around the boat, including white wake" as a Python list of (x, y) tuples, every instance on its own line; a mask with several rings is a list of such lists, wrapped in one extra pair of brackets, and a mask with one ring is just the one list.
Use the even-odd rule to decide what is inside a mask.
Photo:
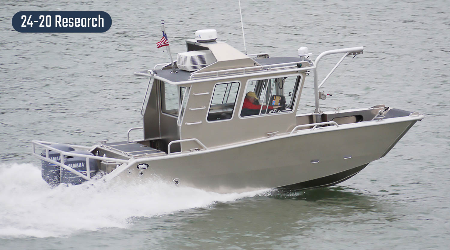
[[(169, 61), (155, 45), (160, 20), (174, 55), (204, 28), (243, 50), (238, 2), (2, 0), (0, 249), (448, 249), (450, 3), (243, 0), (242, 9), (249, 53), (297, 56), (307, 46), (315, 58), (365, 46), (324, 85), (333, 96), (323, 109), (386, 104), (425, 119), (387, 156), (328, 188), (216, 194), (153, 181), (50, 189), (30, 156), (32, 139), (125, 140), (141, 126), (147, 85), (132, 73)], [(112, 27), (19, 33), (11, 18), (24, 10), (106, 11)], [(320, 78), (338, 56), (325, 59)], [(301, 113), (314, 107), (307, 81)]]

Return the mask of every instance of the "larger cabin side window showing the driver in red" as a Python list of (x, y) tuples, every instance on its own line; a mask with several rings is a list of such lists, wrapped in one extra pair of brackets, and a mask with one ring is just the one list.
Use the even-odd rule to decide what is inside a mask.
[(241, 117), (292, 111), (299, 82), (300, 76), (247, 82)]

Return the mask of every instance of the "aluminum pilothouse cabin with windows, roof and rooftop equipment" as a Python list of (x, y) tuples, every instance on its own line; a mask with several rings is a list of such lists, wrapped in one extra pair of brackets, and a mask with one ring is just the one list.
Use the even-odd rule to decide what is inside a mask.
[[(177, 56), (175, 71), (167, 64), (135, 73), (153, 79), (141, 143), (188, 152), (290, 132), (297, 125), (296, 109), (311, 61), (245, 55), (198, 36), (186, 40), (186, 48)], [(258, 99), (252, 109), (244, 107), (248, 92)]]

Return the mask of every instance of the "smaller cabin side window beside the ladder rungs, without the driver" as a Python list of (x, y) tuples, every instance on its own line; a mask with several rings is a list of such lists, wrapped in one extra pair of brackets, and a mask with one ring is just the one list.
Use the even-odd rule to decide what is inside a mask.
[(239, 82), (216, 84), (212, 93), (207, 120), (212, 122), (231, 119), (238, 91)]

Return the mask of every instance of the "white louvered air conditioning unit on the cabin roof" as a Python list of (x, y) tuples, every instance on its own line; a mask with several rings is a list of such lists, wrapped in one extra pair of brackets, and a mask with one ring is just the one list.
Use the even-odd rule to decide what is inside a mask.
[(216, 61), (216, 58), (210, 50), (194, 50), (178, 53), (176, 57), (176, 65), (178, 68), (186, 71), (199, 70)]

